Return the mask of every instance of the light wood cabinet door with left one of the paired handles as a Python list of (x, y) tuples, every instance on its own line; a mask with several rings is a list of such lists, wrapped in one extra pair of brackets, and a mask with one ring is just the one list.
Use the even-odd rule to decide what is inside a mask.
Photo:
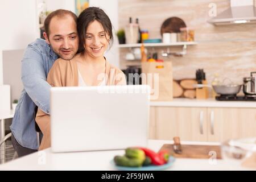
[(207, 108), (155, 107), (155, 139), (207, 141)]

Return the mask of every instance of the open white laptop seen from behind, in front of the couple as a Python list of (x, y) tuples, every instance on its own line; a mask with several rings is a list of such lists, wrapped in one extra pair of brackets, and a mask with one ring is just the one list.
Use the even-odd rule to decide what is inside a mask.
[(147, 146), (150, 86), (51, 88), (51, 150)]

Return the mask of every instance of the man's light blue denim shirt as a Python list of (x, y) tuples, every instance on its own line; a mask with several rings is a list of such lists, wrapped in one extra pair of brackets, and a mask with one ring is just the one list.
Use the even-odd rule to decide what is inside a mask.
[(23, 147), (38, 149), (35, 130), (35, 106), (49, 114), (49, 90), (46, 81), (49, 70), (58, 58), (45, 40), (36, 39), (28, 45), (22, 59), (22, 82), (24, 89), (16, 106), (10, 126), (15, 139)]

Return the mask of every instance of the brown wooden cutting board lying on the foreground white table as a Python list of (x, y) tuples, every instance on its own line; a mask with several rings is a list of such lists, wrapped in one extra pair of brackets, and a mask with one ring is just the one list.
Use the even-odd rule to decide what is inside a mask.
[(203, 146), (203, 145), (181, 145), (182, 153), (176, 154), (174, 152), (173, 144), (164, 144), (159, 151), (167, 150), (169, 154), (175, 158), (196, 158), (196, 159), (209, 159), (216, 156), (221, 159), (220, 146)]

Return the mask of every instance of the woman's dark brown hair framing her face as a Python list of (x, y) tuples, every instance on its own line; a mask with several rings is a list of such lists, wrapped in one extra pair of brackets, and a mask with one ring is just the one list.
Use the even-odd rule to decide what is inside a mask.
[(102, 24), (105, 33), (109, 35), (109, 47), (113, 44), (112, 23), (109, 16), (98, 7), (88, 7), (77, 18), (77, 33), (79, 35), (79, 52), (85, 51), (86, 31), (91, 22), (97, 20)]

